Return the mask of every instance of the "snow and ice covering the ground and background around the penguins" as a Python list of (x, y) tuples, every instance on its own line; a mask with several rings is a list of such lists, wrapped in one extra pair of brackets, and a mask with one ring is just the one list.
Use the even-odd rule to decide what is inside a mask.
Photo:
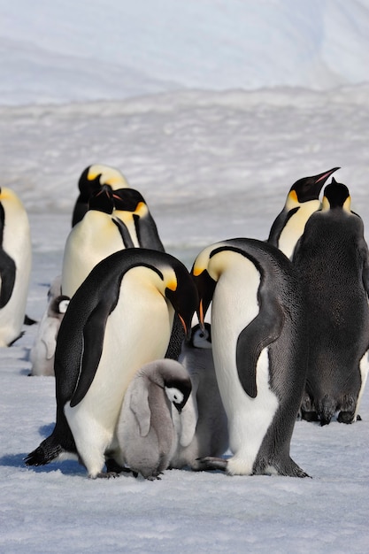
[[(30, 218), (29, 316), (90, 164), (126, 175), (188, 267), (211, 242), (265, 239), (291, 184), (336, 165), (368, 228), (368, 0), (0, 0), (0, 21), (0, 185)], [(35, 333), (0, 351), (0, 550), (367, 550), (368, 389), (360, 422), (296, 422), (311, 479), (91, 481), (73, 461), (24, 466), (55, 421), (54, 378), (27, 377)]]

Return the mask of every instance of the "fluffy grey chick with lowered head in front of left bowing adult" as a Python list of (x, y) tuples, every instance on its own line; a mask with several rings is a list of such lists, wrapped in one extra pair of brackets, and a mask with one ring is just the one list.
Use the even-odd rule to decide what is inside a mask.
[(171, 404), (181, 412), (190, 392), (188, 372), (172, 359), (155, 360), (135, 373), (117, 427), (122, 466), (145, 479), (160, 479), (175, 446)]

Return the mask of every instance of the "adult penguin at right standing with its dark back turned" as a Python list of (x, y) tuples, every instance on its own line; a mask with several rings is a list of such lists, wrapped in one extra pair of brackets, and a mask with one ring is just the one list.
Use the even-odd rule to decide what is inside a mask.
[(350, 192), (327, 185), (296, 245), (294, 265), (308, 307), (309, 365), (304, 419), (351, 423), (365, 387), (369, 349), (369, 252)]

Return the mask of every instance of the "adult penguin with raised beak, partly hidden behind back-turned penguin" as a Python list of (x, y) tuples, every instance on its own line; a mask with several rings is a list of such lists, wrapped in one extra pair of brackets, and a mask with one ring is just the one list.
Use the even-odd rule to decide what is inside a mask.
[(268, 242), (279, 248), (291, 259), (296, 242), (304, 233), (306, 221), (311, 213), (320, 208), (319, 194), (328, 177), (339, 167), (329, 169), (319, 175), (304, 177), (289, 189), (286, 204), (271, 227)]

